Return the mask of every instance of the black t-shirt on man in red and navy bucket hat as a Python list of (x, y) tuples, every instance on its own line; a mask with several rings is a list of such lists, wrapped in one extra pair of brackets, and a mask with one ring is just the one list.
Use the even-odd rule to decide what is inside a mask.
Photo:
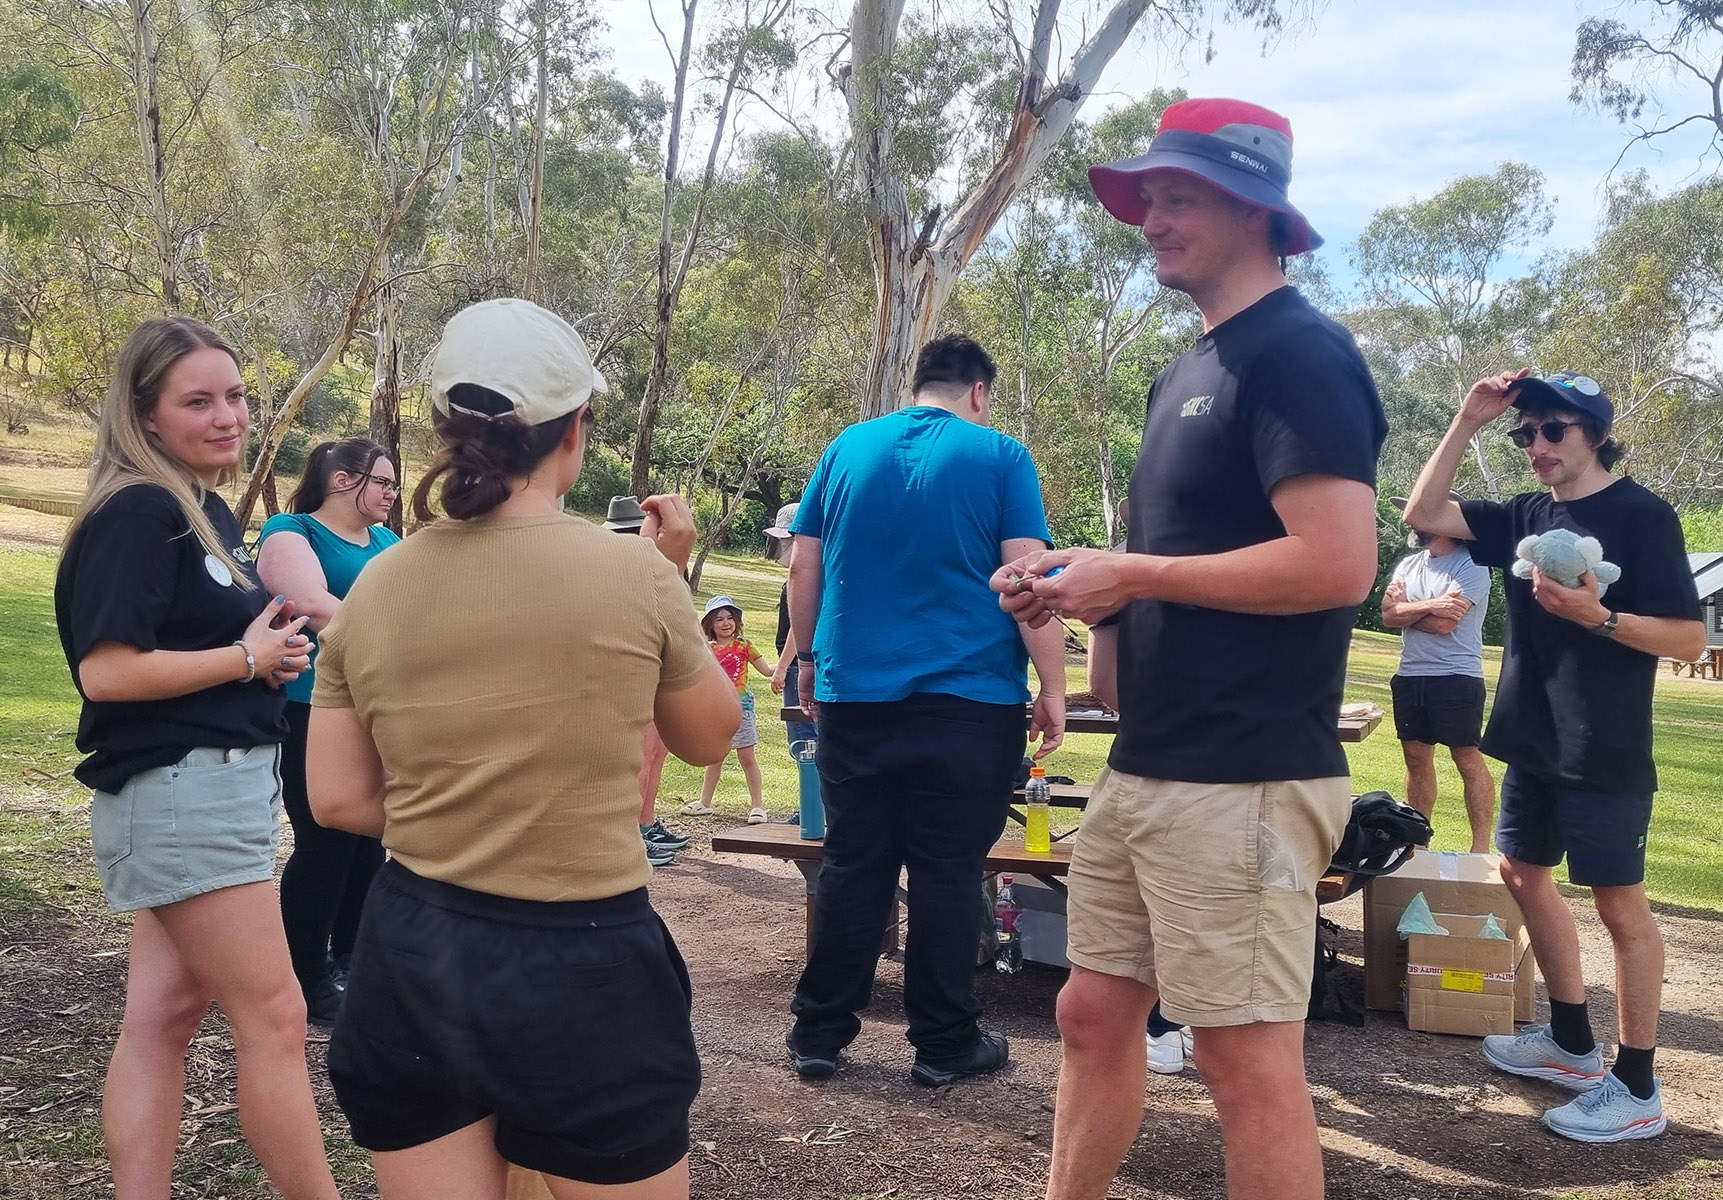
[[(1182, 557), (1284, 538), (1275, 484), (1320, 474), (1375, 486), (1384, 436), (1351, 334), (1294, 288), (1272, 291), (1154, 381), (1127, 548)], [(1346, 774), (1337, 721), (1354, 616), (1130, 603), (1111, 766), (1192, 783)]]

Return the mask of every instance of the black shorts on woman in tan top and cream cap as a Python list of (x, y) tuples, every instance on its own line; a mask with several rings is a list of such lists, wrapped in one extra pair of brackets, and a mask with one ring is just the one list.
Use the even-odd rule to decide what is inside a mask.
[(329, 1078), (367, 1150), (495, 1116), (496, 1148), (519, 1167), (636, 1183), (687, 1153), (691, 1002), (644, 888), (513, 900), (388, 862), (365, 900)]

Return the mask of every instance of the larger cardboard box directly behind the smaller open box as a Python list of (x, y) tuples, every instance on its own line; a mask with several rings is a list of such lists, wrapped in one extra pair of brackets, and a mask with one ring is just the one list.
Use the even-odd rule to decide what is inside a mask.
[[(1420, 850), (1390, 876), (1365, 888), (1365, 1007), (1401, 1012), (1406, 1007), (1406, 943), (1397, 926), (1401, 912), (1420, 891), (1432, 912), (1496, 914), (1511, 945), (1521, 945), (1525, 919), (1501, 881), (1492, 853)], [(1530, 947), (1515, 962), (1515, 1021), (1537, 1014), (1537, 972)]]

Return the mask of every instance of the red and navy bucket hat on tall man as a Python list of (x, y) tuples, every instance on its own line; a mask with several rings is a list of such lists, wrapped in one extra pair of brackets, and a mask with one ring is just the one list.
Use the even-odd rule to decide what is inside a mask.
[(1285, 255), (1322, 245), (1322, 236), (1287, 200), (1292, 122), (1272, 109), (1220, 98), (1170, 103), (1148, 152), (1089, 167), (1089, 186), (1108, 212), (1141, 226), (1148, 216), (1142, 176), (1149, 171), (1182, 171), (1246, 203), (1284, 214)]

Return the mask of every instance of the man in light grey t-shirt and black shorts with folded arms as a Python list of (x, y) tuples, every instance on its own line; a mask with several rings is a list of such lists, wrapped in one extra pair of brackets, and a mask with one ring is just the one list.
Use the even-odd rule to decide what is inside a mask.
[[(1406, 498), (1392, 497), (1389, 503), (1404, 510)], [(1490, 572), (1471, 560), (1458, 538), (1439, 533), (1411, 538), (1418, 552), (1394, 566), (1382, 593), (1382, 624), (1401, 629), (1401, 664), (1389, 688), (1394, 731), (1406, 757), (1406, 803), (1427, 817), (1435, 812), (1435, 748), (1447, 747), (1465, 788), (1471, 853), (1489, 853), (1496, 779), (1478, 738)]]

